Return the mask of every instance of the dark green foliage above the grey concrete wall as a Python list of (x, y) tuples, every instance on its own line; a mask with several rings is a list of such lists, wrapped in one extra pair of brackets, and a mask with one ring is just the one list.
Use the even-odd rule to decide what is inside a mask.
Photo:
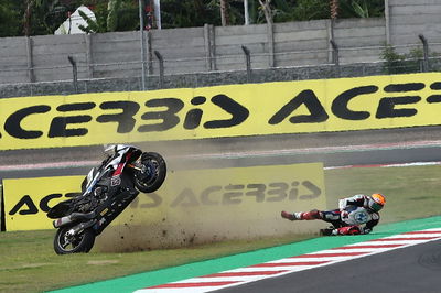
[[(31, 3), (26, 22), (25, 8)], [(144, 0), (147, 1), (147, 0)], [(367, 18), (384, 14), (384, 0), (340, 0), (338, 19)], [(0, 36), (24, 34), (53, 34), (79, 6), (93, 7), (97, 18), (87, 20), (86, 32), (133, 31), (139, 29), (139, 8), (137, 0), (1, 0)], [(250, 23), (266, 23), (259, 0), (248, 0)], [(230, 25), (243, 25), (243, 0), (228, 1)], [(308, 21), (330, 18), (329, 0), (272, 0), (271, 14), (275, 22)], [(202, 26), (205, 23), (220, 25), (218, 0), (162, 0), (162, 28)]]

